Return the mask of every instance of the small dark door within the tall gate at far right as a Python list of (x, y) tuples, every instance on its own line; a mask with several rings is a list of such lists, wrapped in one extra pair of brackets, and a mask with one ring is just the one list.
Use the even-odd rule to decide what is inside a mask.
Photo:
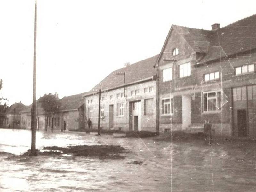
[(237, 110), (237, 136), (247, 136), (247, 115), (245, 109)]

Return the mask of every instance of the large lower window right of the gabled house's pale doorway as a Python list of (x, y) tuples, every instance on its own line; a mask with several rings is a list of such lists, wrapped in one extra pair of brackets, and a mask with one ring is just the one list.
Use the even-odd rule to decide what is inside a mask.
[(221, 92), (203, 93), (203, 109), (207, 111), (218, 111), (221, 109)]

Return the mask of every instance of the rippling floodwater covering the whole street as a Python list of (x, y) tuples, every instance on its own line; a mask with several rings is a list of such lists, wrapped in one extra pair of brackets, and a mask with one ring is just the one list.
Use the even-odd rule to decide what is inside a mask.
[(121, 145), (125, 159), (14, 157), (30, 148), (31, 132), (0, 129), (0, 191), (256, 191), (255, 143), (116, 136), (37, 132), (36, 148)]

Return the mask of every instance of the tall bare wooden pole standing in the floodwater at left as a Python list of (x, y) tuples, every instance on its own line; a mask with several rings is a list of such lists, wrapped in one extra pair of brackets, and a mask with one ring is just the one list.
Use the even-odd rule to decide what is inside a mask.
[(34, 22), (34, 70), (33, 70), (33, 104), (32, 104), (32, 129), (31, 129), (31, 154), (36, 155), (36, 16), (37, 1), (35, 1)]

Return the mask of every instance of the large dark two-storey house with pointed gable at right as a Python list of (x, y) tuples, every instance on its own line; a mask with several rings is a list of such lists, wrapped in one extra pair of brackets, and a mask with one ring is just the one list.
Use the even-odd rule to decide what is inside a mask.
[(159, 128), (256, 137), (256, 15), (212, 30), (172, 25), (156, 61)]

